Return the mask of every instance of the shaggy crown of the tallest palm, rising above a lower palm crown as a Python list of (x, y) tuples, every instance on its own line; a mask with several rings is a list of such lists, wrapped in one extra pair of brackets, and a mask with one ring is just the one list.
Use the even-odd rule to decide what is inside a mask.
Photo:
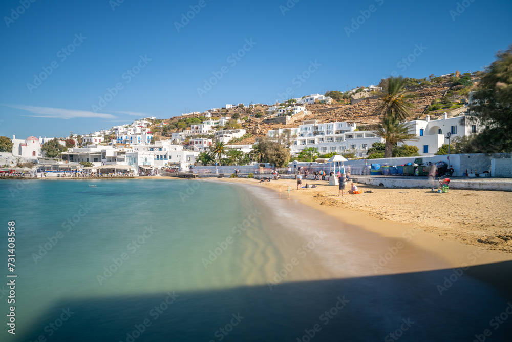
[(387, 118), (405, 120), (412, 115), (411, 109), (415, 105), (411, 102), (416, 95), (404, 91), (406, 81), (399, 77), (390, 77), (387, 87), (379, 94), (380, 104), (377, 111), (380, 113), (380, 122), (383, 124)]

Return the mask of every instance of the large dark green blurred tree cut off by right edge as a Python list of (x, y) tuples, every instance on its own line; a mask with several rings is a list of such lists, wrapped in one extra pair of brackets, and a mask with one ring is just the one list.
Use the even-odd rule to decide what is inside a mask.
[(496, 54), (496, 61), (485, 69), (474, 96), (472, 121), (485, 129), (474, 141), (481, 152), (512, 151), (512, 45)]

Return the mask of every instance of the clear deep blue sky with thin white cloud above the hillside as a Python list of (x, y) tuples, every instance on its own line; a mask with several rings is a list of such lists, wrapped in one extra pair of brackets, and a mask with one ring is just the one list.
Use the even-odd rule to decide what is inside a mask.
[(476, 71), (512, 43), (509, 0), (32, 1), (0, 5), (11, 138)]

